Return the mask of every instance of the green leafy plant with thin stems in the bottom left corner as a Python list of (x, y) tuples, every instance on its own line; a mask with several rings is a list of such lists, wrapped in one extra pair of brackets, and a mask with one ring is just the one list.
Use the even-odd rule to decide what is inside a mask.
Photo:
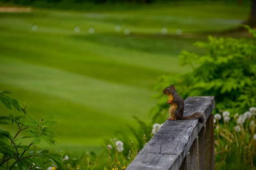
[[(22, 115), (0, 117), (0, 124), (16, 125), (17, 132), (12, 135), (8, 131), (0, 129), (0, 167), (1, 169), (45, 169), (51, 163), (56, 164), (60, 169), (65, 169), (60, 155), (49, 154), (47, 150), (41, 150), (38, 144), (41, 140), (50, 145), (55, 143), (55, 134), (50, 130), (55, 124), (52, 117), (37, 122), (26, 115), (26, 105), (20, 106), (19, 102), (10, 96), (10, 92), (0, 92), (1, 103), (9, 110), (12, 106)], [(22, 135), (23, 134), (23, 135)], [(25, 138), (31, 139), (24, 142)]]

